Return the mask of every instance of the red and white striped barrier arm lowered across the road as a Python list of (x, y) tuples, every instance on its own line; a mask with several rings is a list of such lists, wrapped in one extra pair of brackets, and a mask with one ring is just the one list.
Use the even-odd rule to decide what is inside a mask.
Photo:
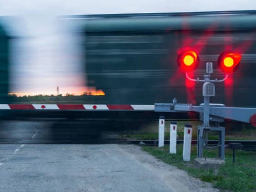
[(0, 110), (154, 111), (154, 105), (0, 104)]

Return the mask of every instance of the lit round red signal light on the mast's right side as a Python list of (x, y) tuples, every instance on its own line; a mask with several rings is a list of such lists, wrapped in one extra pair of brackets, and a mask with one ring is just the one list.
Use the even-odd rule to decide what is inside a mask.
[(219, 55), (218, 66), (224, 73), (233, 73), (238, 69), (241, 58), (239, 53), (223, 52)]

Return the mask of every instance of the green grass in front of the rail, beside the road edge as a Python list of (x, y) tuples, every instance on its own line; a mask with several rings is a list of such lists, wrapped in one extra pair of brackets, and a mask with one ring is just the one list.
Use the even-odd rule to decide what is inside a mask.
[[(236, 163), (232, 163), (232, 151), (226, 149), (226, 163), (217, 170), (198, 169), (192, 162), (196, 158), (196, 146), (192, 146), (191, 161), (183, 161), (183, 144), (177, 145), (177, 154), (169, 153), (169, 146), (142, 146), (142, 149), (167, 164), (186, 170), (189, 175), (211, 182), (213, 186), (234, 192), (256, 192), (256, 152), (236, 151)], [(217, 150), (205, 150), (207, 158), (217, 158)]]

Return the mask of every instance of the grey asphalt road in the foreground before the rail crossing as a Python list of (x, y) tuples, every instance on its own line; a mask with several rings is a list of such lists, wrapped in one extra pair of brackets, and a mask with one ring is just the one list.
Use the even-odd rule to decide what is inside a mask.
[(0, 144), (0, 192), (205, 192), (134, 145)]

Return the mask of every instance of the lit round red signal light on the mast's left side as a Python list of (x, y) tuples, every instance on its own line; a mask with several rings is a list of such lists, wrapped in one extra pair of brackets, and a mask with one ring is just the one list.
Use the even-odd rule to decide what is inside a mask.
[(193, 71), (198, 67), (199, 57), (193, 50), (183, 51), (178, 55), (177, 63), (182, 71)]

